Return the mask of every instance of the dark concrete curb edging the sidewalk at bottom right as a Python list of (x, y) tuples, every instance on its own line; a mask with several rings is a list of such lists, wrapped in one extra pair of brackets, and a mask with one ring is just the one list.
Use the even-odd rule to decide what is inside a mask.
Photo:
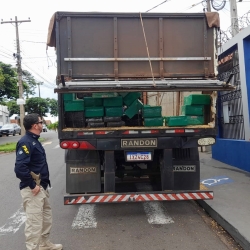
[(220, 224), (243, 249), (250, 249), (250, 242), (236, 229), (232, 224), (226, 221), (218, 212), (216, 212), (206, 201), (197, 200), (197, 203)]

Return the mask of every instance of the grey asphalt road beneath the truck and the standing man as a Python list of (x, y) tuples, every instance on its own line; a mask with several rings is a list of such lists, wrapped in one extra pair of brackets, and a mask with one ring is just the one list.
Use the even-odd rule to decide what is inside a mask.
[[(55, 132), (42, 137), (47, 139), (43, 144), (52, 182), (52, 242), (68, 250), (230, 249), (230, 242), (218, 236), (193, 201), (64, 206), (64, 152)], [(0, 155), (0, 249), (4, 250), (25, 249), (25, 215), (14, 162), (14, 153)]]

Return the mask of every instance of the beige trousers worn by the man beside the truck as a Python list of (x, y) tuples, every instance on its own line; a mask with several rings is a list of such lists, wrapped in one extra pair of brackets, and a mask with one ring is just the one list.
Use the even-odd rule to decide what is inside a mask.
[(52, 225), (52, 211), (49, 192), (40, 186), (40, 192), (33, 195), (30, 187), (21, 190), (23, 208), (26, 213), (25, 237), (27, 250), (38, 250), (39, 244), (49, 240)]

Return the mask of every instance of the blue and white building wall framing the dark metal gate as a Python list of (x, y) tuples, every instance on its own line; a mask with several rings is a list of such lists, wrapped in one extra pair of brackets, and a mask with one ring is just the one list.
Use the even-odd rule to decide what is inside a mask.
[[(241, 115), (243, 116), (242, 120), (238, 120), (244, 123), (244, 127), (240, 126), (237, 129), (244, 129), (244, 137), (242, 140), (240, 137), (225, 138), (223, 136), (223, 128), (219, 125), (218, 138), (216, 144), (212, 147), (212, 157), (250, 172), (250, 26), (240, 31), (240, 33), (224, 44), (220, 49), (222, 53), (219, 57), (223, 58), (236, 49), (238, 51), (240, 74), (239, 91), (241, 92), (240, 98), (242, 99)], [(217, 113), (218, 116), (222, 113), (220, 106), (218, 106)], [(238, 111), (235, 113), (239, 115)], [(218, 122), (218, 124), (220, 123)]]

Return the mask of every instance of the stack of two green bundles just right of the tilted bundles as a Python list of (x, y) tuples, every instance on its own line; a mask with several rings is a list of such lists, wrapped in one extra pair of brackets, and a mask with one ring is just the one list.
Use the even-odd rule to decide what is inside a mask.
[(163, 118), (161, 115), (162, 108), (161, 106), (151, 107), (149, 105), (145, 105), (142, 108), (142, 115), (144, 118), (144, 126), (163, 126)]

